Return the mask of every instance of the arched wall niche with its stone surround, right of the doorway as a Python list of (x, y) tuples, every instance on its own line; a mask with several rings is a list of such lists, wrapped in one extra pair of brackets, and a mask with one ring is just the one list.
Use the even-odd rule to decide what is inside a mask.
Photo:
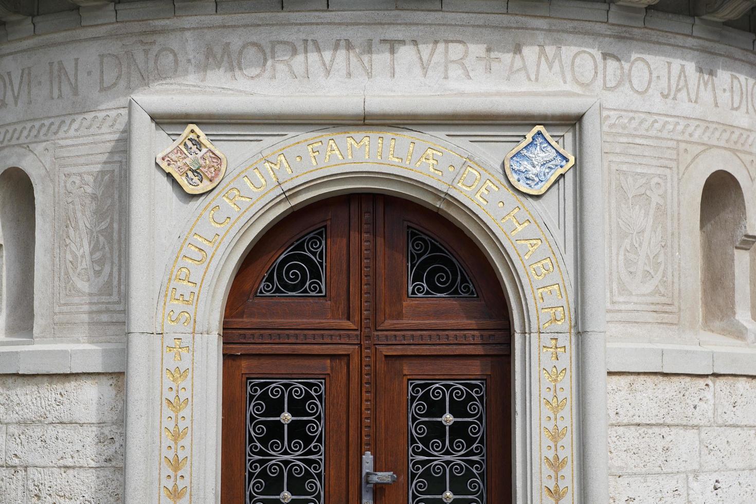
[(708, 148), (694, 156), (680, 184), (680, 324), (708, 342), (754, 342), (751, 251), (756, 237), (754, 185), (742, 159)]

